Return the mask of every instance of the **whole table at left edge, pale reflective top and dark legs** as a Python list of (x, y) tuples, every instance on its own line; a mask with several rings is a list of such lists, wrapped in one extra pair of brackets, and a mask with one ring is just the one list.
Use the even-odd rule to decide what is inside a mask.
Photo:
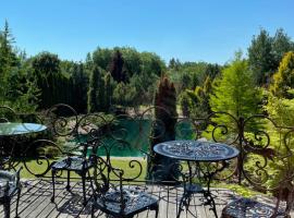
[[(10, 162), (11, 155), (14, 150), (15, 144), (19, 143), (19, 138), (16, 136), (38, 133), (45, 131), (46, 129), (47, 129), (46, 125), (38, 123), (17, 123), (17, 122), (0, 123), (0, 156), (1, 156), (0, 169), (4, 169), (4, 166), (8, 162)], [(11, 141), (12, 137), (16, 137), (16, 140), (10, 143), (10, 145), (7, 145), (7, 142)]]

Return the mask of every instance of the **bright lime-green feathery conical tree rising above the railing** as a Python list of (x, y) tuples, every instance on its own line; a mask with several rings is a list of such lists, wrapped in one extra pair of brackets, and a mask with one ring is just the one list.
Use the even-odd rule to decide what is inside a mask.
[[(209, 100), (212, 111), (229, 112), (236, 118), (247, 118), (259, 111), (260, 92), (254, 86), (247, 61), (241, 57), (241, 53), (236, 53), (218, 78)], [(220, 120), (228, 123), (224, 117)]]

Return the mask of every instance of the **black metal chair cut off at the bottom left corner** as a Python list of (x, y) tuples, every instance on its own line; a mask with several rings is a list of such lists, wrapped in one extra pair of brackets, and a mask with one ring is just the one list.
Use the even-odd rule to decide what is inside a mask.
[(19, 217), (19, 203), (21, 197), (22, 184), (20, 182), (20, 168), (12, 173), (5, 170), (0, 170), (0, 204), (4, 207), (4, 217), (10, 217), (10, 203), (12, 197), (17, 194), (15, 217)]

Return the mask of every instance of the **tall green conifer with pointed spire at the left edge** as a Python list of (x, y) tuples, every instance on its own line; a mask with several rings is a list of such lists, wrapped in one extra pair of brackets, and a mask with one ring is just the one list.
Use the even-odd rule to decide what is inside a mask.
[(25, 55), (17, 56), (13, 43), (14, 38), (5, 22), (3, 32), (0, 32), (0, 105), (33, 112), (36, 109), (38, 89), (25, 64)]

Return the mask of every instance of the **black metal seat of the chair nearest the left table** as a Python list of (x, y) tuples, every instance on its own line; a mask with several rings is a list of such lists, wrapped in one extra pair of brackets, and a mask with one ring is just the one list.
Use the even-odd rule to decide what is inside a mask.
[[(83, 169), (83, 165), (84, 169)], [(54, 170), (70, 170), (70, 171), (82, 171), (82, 170), (88, 170), (94, 165), (90, 161), (85, 160), (84, 158), (72, 156), (72, 157), (65, 157), (56, 164), (52, 165), (52, 169)]]

